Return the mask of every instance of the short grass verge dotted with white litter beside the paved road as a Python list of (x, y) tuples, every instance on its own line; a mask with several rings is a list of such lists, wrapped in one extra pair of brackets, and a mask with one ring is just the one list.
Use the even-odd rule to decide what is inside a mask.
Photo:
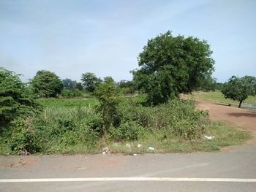
[[(202, 137), (202, 139), (185, 141), (178, 137), (165, 138), (164, 132), (156, 131), (135, 142), (110, 142), (107, 146), (116, 153), (124, 154), (214, 152), (225, 146), (241, 145), (251, 138), (249, 132), (231, 128), (222, 122), (212, 122), (206, 129), (206, 135), (214, 136), (214, 139), (208, 140)], [(130, 149), (126, 147), (126, 143), (129, 143)], [(138, 148), (138, 144), (142, 147)], [(154, 152), (149, 151), (148, 147), (154, 147)]]

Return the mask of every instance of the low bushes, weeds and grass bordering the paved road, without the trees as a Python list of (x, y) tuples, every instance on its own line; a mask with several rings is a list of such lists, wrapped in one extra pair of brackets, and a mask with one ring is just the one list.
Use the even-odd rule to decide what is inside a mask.
[[(40, 114), (18, 118), (1, 134), (1, 155), (20, 150), (40, 154), (166, 153), (216, 151), (249, 138), (224, 123), (210, 122), (206, 112), (195, 110), (194, 101), (173, 100), (158, 107), (143, 107), (145, 97), (122, 97), (118, 126), (103, 137), (104, 121), (91, 99), (39, 99)], [(204, 135), (212, 135), (208, 140)], [(127, 147), (129, 144), (130, 147)], [(138, 144), (141, 147), (138, 147)], [(148, 147), (154, 147), (154, 151)]]

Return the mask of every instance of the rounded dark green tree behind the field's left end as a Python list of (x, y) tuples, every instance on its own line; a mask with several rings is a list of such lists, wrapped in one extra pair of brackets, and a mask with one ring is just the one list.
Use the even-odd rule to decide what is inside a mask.
[(63, 89), (63, 84), (59, 77), (53, 72), (45, 70), (37, 72), (31, 80), (31, 86), (38, 98), (57, 97)]

